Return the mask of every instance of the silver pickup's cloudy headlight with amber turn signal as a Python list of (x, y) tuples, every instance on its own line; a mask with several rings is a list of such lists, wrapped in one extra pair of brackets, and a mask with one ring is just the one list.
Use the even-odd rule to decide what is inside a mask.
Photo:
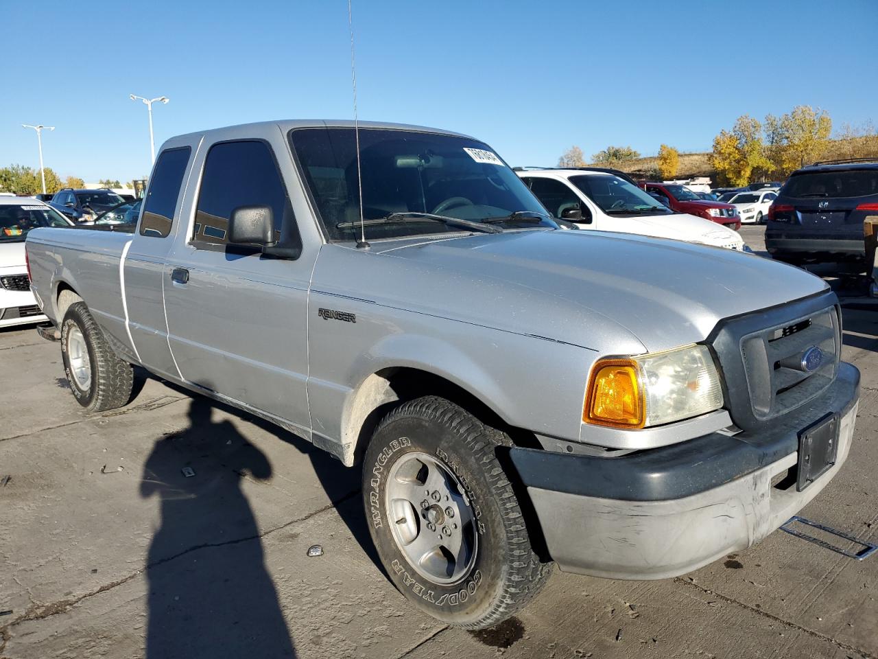
[(704, 345), (600, 359), (588, 381), (582, 420), (615, 428), (671, 424), (723, 407), (723, 387)]

